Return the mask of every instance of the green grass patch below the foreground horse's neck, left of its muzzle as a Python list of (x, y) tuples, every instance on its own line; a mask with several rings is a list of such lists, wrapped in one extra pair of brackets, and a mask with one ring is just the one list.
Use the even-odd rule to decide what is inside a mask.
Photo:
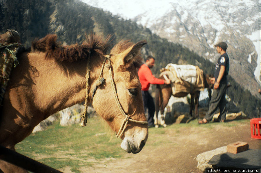
[(78, 124), (62, 127), (56, 122), (18, 143), (16, 151), (55, 169), (69, 166), (72, 172), (79, 172), (80, 167), (91, 166), (93, 161), (125, 154), (121, 139), (106, 130), (108, 127), (99, 117), (88, 119), (84, 128)]

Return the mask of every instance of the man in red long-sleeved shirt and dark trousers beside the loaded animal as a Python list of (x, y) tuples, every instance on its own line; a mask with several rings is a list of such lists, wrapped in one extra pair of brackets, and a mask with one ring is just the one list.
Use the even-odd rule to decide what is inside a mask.
[(170, 84), (171, 81), (157, 79), (153, 76), (151, 68), (155, 65), (155, 59), (152, 56), (148, 56), (146, 62), (139, 68), (138, 75), (139, 81), (142, 85), (142, 98), (144, 112), (147, 112), (148, 109), (148, 126), (154, 126), (154, 112), (155, 105), (151, 94), (148, 92), (150, 84)]

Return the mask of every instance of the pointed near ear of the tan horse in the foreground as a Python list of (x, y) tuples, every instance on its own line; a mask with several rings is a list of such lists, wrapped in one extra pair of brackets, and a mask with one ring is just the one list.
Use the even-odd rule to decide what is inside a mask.
[(121, 68), (128, 68), (134, 61), (139, 57), (140, 49), (143, 45), (147, 44), (145, 40), (139, 41), (135, 45), (124, 51), (124, 56), (122, 63), (120, 64)]

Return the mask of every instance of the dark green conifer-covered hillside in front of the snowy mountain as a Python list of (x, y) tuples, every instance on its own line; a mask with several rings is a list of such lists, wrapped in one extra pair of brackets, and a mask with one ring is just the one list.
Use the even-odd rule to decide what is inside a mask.
[[(35, 38), (48, 33), (57, 34), (63, 44), (81, 44), (85, 34), (94, 32), (112, 35), (113, 43), (120, 40), (138, 42), (146, 40), (142, 56), (155, 57), (153, 74), (168, 63), (198, 65), (206, 74), (213, 74), (214, 64), (181, 44), (169, 42), (153, 34), (134, 21), (124, 20), (102, 9), (88, 6), (78, 0), (0, 0), (0, 34), (8, 29), (17, 30), (21, 42), (30, 47)], [(218, 58), (218, 57), (217, 57)], [(261, 100), (244, 90), (229, 76), (228, 96), (249, 118), (258, 117)]]

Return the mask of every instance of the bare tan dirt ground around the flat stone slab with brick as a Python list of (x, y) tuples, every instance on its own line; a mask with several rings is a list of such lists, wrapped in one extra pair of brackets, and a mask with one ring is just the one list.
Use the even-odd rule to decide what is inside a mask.
[[(169, 125), (163, 134), (173, 142), (155, 146), (145, 145), (138, 154), (126, 153), (124, 158), (108, 159), (81, 171), (97, 173), (198, 173), (201, 171), (197, 168), (196, 157), (200, 153), (237, 141), (249, 143), (251, 149), (261, 149), (261, 140), (251, 139), (248, 121), (244, 123), (231, 121), (225, 125), (218, 123), (211, 128), (206, 128), (205, 124), (193, 127), (186, 126), (178, 130), (171, 128), (173, 125), (175, 124)], [(149, 128), (149, 134), (151, 130), (153, 129)], [(156, 139), (149, 136), (147, 143), (154, 141)], [(64, 170), (64, 172), (67, 171)]]

